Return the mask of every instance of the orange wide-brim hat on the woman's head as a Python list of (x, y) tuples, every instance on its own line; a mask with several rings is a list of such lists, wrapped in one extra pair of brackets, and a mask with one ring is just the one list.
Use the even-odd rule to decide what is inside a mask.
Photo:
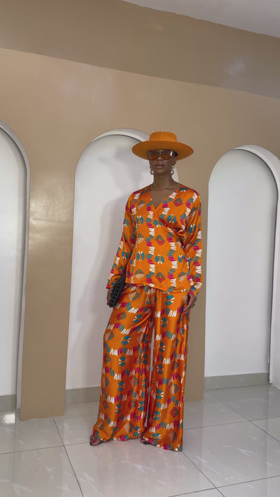
[(148, 159), (149, 150), (174, 150), (177, 153), (177, 160), (193, 154), (192, 147), (177, 141), (176, 134), (169, 131), (155, 131), (147, 141), (141, 141), (132, 147), (132, 152), (141, 159)]

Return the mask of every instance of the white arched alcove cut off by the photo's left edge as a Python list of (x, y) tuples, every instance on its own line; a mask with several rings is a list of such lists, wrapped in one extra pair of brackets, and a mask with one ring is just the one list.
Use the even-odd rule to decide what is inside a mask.
[(29, 161), (0, 121), (0, 410), (20, 408), (29, 226)]

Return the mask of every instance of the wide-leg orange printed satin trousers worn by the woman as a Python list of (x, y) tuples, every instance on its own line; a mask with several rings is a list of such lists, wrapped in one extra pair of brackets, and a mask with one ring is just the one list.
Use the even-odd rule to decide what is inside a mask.
[(183, 449), (187, 298), (183, 292), (125, 286), (104, 333), (102, 390), (92, 431), (100, 440), (143, 436), (163, 449)]

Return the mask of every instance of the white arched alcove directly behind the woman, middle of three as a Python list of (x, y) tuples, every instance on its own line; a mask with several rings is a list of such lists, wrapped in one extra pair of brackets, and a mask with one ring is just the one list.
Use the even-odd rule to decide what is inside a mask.
[[(96, 387), (99, 398), (102, 338), (111, 310), (106, 283), (116, 255), (128, 196), (151, 183), (148, 161), (136, 157), (135, 143), (148, 134), (115, 129), (94, 139), (76, 168), (73, 259), (69, 317), (66, 401), (90, 400), (76, 389)], [(176, 175), (174, 175), (174, 178)], [(71, 396), (68, 392), (72, 391)], [(69, 392), (70, 393), (70, 392)]]

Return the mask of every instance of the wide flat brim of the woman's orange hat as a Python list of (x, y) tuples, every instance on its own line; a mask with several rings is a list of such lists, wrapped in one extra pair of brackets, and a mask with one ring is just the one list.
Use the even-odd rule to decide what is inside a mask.
[(177, 153), (177, 160), (185, 159), (189, 155), (193, 154), (193, 148), (185, 145), (185, 143), (180, 143), (179, 141), (168, 141), (168, 140), (147, 140), (141, 141), (132, 147), (132, 152), (141, 159), (148, 160), (147, 152), (149, 150), (174, 150)]

